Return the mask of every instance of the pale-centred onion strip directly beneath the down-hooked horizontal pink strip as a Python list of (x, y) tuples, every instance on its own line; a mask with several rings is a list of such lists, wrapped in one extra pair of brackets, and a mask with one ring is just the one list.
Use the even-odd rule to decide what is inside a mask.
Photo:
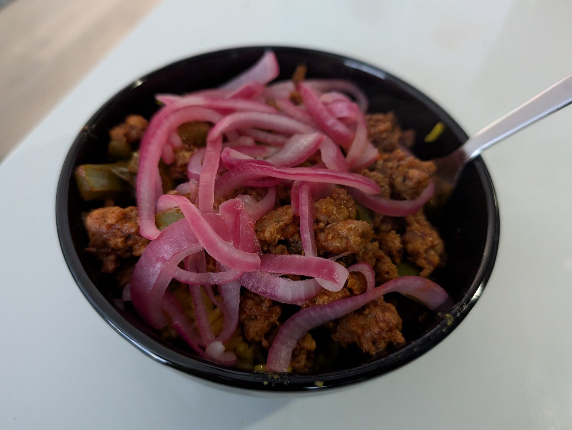
[(293, 305), (303, 305), (321, 290), (315, 279), (292, 281), (266, 272), (245, 273), (239, 281), (240, 285), (253, 293)]

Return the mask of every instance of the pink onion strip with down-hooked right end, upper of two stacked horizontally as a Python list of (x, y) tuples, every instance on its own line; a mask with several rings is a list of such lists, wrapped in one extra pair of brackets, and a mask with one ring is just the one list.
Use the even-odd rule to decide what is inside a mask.
[(324, 280), (331, 291), (339, 291), (348, 279), (348, 270), (341, 264), (327, 258), (301, 256), (297, 254), (262, 254), (260, 272), (275, 274), (297, 274)]

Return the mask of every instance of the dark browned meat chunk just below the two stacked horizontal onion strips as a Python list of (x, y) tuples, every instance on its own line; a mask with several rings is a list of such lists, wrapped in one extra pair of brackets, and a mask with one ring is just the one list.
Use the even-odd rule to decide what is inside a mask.
[(269, 298), (245, 290), (240, 297), (239, 308), (244, 337), (249, 342), (262, 342), (272, 328), (278, 327), (281, 313), (280, 305)]

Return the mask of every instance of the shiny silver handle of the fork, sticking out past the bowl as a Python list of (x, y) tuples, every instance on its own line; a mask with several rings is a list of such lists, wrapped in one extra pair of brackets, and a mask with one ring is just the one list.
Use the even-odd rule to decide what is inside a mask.
[(456, 155), (463, 156), (464, 162), (470, 161), (489, 146), (570, 103), (572, 103), (572, 74), (474, 134), (455, 151), (458, 152)]

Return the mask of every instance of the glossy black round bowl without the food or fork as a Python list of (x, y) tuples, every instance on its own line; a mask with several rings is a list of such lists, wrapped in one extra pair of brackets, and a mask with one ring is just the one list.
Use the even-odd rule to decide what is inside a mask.
[[(81, 213), (93, 206), (82, 201), (77, 192), (73, 180), (76, 166), (105, 162), (108, 130), (127, 114), (138, 113), (149, 118), (158, 109), (154, 94), (216, 87), (252, 65), (264, 49), (266, 47), (228, 49), (172, 63), (133, 82), (94, 114), (74, 141), (59, 178), (55, 210), (63, 255), (86, 298), (121, 336), (149, 357), (190, 375), (234, 387), (267, 391), (315, 389), (317, 385), (335, 387), (381, 375), (419, 357), (443, 340), (471, 310), (491, 274), (498, 247), (499, 213), (491, 178), (480, 158), (467, 166), (442, 215), (434, 219), (449, 256), (447, 265), (435, 272), (435, 276), (454, 298), (455, 305), (403, 348), (338, 371), (271, 377), (220, 367), (176, 345), (166, 344), (136, 313), (121, 309), (106, 297), (102, 286), (108, 281), (98, 273), (98, 262), (85, 252), (88, 240)], [(272, 49), (280, 61), (279, 79), (289, 78), (296, 65), (306, 63), (309, 78), (343, 78), (358, 84), (370, 98), (370, 112), (393, 111), (404, 129), (416, 131), (418, 144), (414, 150), (421, 158), (451, 152), (467, 139), (459, 125), (435, 102), (377, 67), (315, 50)], [(422, 137), (438, 121), (446, 125), (446, 131), (438, 142), (423, 144)]]

